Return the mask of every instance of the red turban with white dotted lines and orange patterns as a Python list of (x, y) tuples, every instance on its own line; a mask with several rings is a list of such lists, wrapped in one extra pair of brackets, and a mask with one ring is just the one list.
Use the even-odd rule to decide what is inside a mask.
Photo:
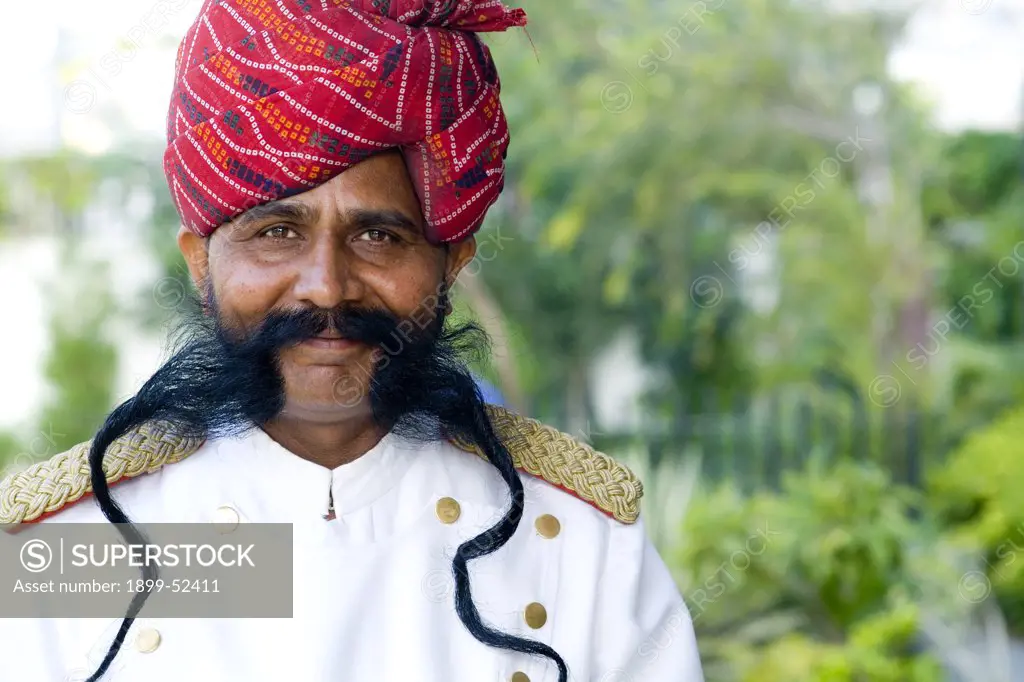
[(164, 172), (201, 237), (401, 151), (433, 243), (479, 228), (509, 132), (476, 33), (499, 0), (206, 0), (178, 48)]

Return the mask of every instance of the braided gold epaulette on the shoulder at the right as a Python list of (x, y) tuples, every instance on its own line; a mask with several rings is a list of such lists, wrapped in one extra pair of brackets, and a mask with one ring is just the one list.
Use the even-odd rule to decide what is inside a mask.
[[(629, 468), (537, 420), (498, 406), (487, 406), (487, 413), (517, 469), (564, 487), (623, 523), (640, 516), (643, 483)], [(453, 442), (483, 457), (475, 445)]]

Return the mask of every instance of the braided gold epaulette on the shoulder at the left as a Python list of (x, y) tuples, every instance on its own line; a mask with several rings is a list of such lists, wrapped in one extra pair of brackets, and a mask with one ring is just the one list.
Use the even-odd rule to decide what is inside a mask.
[[(153, 422), (111, 443), (103, 456), (103, 471), (114, 484), (180, 462), (202, 444), (200, 439), (175, 433), (168, 422)], [(0, 526), (34, 521), (92, 493), (91, 446), (91, 440), (79, 443), (0, 481)]]

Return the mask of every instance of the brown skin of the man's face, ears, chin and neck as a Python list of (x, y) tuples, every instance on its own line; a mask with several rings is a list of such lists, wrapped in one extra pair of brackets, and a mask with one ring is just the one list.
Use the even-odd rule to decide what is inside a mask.
[[(249, 330), (271, 310), (383, 308), (418, 324), (476, 255), (472, 238), (430, 244), (402, 157), (371, 157), (301, 195), (256, 207), (209, 238), (182, 227), (189, 274), (213, 287), (223, 322)], [(384, 436), (366, 395), (379, 349), (334, 340), (281, 353), (285, 409), (264, 426), (303, 459), (333, 469)], [(346, 396), (344, 399), (341, 396)], [(354, 395), (354, 399), (347, 396)]]

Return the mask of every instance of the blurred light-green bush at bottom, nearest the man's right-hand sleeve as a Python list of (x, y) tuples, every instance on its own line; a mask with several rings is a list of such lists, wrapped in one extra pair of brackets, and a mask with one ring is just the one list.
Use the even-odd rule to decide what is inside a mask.
[[(673, 564), (710, 682), (938, 682), (916, 652), (938, 531), (879, 469), (786, 478), (781, 494), (729, 486), (690, 506)], [(930, 572), (931, 571), (931, 572)], [(951, 582), (945, 582), (951, 581)]]

